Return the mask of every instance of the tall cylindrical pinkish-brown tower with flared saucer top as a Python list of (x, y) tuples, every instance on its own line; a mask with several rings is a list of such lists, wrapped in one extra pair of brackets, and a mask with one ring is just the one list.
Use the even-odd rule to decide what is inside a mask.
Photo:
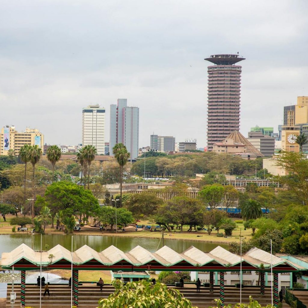
[(208, 66), (208, 151), (240, 128), (241, 69), (239, 55), (211, 55)]

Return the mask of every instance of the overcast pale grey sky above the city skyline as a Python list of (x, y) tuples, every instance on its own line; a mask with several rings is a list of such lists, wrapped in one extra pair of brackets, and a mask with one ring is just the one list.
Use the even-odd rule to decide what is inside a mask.
[(206, 145), (207, 63), (242, 61), (241, 129), (282, 122), (308, 95), (307, 0), (0, 1), (0, 126), (81, 143), (82, 108), (127, 98), (150, 134)]

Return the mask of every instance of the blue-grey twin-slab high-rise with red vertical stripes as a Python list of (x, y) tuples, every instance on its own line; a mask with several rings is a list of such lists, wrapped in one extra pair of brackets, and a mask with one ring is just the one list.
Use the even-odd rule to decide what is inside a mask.
[(126, 146), (131, 154), (131, 162), (136, 160), (139, 144), (139, 108), (127, 107), (127, 99), (118, 99), (117, 105), (110, 105), (110, 152), (117, 143)]

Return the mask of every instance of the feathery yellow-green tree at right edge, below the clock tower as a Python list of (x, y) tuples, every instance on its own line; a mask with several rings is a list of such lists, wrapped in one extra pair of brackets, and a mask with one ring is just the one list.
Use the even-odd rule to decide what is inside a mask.
[(282, 151), (277, 157), (277, 166), (282, 167), (287, 175), (280, 176), (279, 182), (308, 205), (308, 160), (302, 152)]

